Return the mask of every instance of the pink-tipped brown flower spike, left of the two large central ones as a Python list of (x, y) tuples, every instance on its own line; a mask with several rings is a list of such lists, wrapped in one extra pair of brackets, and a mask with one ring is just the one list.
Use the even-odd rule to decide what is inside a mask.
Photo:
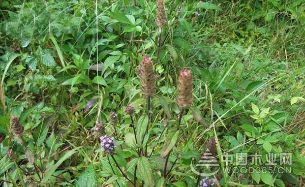
[(155, 75), (152, 68), (152, 59), (150, 57), (144, 57), (140, 64), (140, 68), (142, 91), (146, 95), (152, 95), (154, 93), (154, 90), (156, 89), (154, 85)]

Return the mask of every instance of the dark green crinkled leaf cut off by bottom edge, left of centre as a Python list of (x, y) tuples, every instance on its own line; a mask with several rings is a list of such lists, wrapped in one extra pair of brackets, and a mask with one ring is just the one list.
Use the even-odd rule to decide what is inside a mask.
[(75, 182), (75, 187), (96, 187), (96, 185), (96, 174), (92, 165), (83, 171)]

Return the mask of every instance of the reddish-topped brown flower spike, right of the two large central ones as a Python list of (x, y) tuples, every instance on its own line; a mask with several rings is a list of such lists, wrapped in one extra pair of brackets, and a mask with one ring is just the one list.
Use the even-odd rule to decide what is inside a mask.
[(177, 103), (181, 108), (187, 108), (192, 104), (192, 75), (190, 70), (181, 70), (178, 78)]

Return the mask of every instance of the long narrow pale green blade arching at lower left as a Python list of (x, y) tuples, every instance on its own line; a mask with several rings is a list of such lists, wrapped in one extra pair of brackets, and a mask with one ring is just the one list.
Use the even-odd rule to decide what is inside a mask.
[(44, 177), (42, 178), (40, 185), (43, 186), (46, 182), (48, 182), (48, 180), (50, 179), (50, 177), (52, 177), (52, 175), (54, 174), (54, 172), (56, 171), (56, 169), (61, 165), (61, 163), (68, 159), (70, 156), (72, 156), (74, 153), (76, 153), (76, 150), (78, 150), (80, 147), (74, 148), (70, 151), (68, 151), (66, 154), (64, 154), (61, 159), (56, 163), (51, 165), (50, 167), (47, 167), (47, 169), (44, 172)]

